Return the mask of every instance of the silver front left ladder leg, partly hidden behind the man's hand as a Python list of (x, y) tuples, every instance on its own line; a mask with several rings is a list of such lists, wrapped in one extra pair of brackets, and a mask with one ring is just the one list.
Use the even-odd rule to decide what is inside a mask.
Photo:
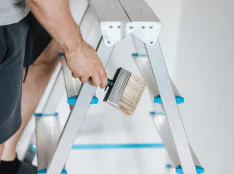
[[(107, 47), (104, 41), (101, 41), (98, 48), (98, 55), (104, 66), (106, 66), (112, 50), (113, 47)], [(59, 174), (62, 171), (96, 89), (97, 87), (93, 87), (89, 83), (82, 85), (77, 102), (69, 115), (57, 148), (47, 168), (47, 174)]]

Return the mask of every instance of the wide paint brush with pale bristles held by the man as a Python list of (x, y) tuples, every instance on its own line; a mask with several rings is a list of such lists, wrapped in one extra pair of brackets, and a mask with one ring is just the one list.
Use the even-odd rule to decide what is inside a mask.
[(146, 82), (144, 79), (123, 68), (119, 68), (113, 80), (108, 79), (106, 87), (108, 91), (104, 101), (130, 116), (136, 110), (145, 87)]

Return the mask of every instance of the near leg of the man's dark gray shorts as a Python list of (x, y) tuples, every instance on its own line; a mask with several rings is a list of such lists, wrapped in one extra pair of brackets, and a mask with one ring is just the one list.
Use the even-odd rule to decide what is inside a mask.
[(21, 125), (22, 69), (28, 23), (0, 27), (0, 144)]

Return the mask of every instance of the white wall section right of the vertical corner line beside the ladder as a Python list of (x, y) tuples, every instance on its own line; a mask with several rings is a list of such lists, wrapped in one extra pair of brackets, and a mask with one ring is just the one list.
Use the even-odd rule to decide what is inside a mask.
[(206, 174), (234, 172), (234, 1), (181, 0), (176, 83)]

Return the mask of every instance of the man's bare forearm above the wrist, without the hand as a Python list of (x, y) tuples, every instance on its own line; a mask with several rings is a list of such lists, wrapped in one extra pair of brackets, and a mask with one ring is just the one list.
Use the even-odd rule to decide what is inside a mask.
[(71, 52), (82, 36), (69, 9), (68, 0), (27, 0), (34, 16), (65, 52)]

